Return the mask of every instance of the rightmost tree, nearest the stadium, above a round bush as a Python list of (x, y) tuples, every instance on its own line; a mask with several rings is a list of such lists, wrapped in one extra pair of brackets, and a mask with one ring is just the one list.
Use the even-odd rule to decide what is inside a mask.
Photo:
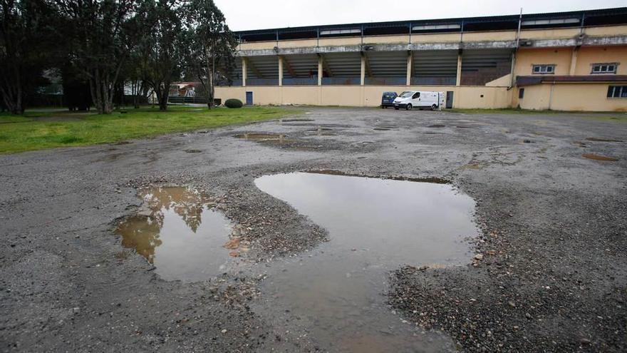
[(224, 14), (213, 0), (190, 0), (187, 4), (187, 68), (204, 88), (209, 109), (214, 101), (217, 78), (229, 78), (235, 60), (237, 39)]

